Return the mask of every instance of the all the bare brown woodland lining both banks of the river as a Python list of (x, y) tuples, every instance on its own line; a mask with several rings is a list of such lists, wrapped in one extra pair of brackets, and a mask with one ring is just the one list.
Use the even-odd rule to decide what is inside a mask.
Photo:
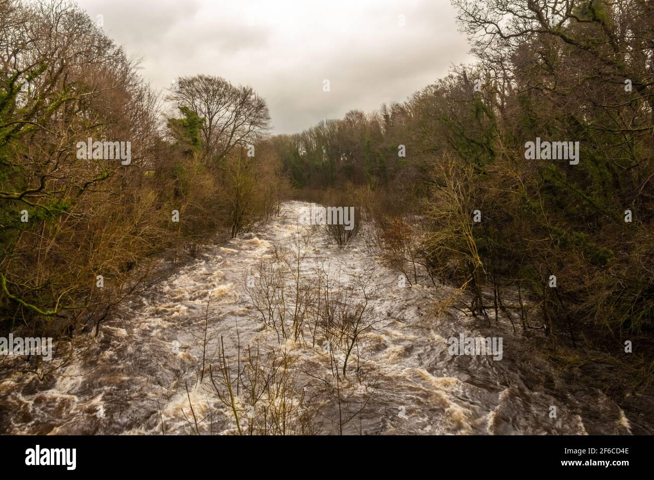
[[(295, 195), (356, 206), (371, 252), (409, 283), (460, 288), (489, 324), (519, 315), (553, 346), (616, 355), (631, 340), (632, 386), (647, 387), (654, 5), (453, 3), (477, 63), (404, 103), (270, 136), (252, 88), (198, 74), (153, 91), (74, 5), (1, 0), (0, 330), (96, 327), (162, 256)], [(131, 141), (131, 164), (80, 161), (89, 137)], [(537, 137), (578, 141), (579, 163), (526, 159)]]

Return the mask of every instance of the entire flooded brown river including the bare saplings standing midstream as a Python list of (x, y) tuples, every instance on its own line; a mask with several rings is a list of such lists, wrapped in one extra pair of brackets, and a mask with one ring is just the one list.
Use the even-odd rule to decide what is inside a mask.
[[(464, 308), (434, 316), (434, 303), (456, 289), (435, 287), (423, 274), (403, 284), (370, 257), (364, 233), (339, 249), (323, 227), (300, 225), (309, 208), (286, 202), (279, 219), (201, 249), (196, 261), (128, 298), (56, 376), (5, 377), (0, 428), (631, 433), (625, 411), (584, 387), (581, 372), (566, 378), (536, 351), (544, 334), (525, 340), (505, 319), (485, 327)], [(501, 336), (501, 361), (451, 355), (448, 340), (460, 335)]]

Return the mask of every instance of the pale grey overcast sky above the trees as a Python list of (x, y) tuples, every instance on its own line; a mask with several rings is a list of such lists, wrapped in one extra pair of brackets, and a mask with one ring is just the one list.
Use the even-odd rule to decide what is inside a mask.
[(102, 15), (109, 37), (143, 59), (143, 76), (155, 88), (197, 73), (249, 84), (266, 99), (274, 133), (404, 101), (452, 64), (472, 61), (449, 0), (78, 4), (94, 19)]

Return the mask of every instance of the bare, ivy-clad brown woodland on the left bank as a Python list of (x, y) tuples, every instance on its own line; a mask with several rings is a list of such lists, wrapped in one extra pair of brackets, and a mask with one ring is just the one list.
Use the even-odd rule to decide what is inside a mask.
[[(3, 332), (94, 327), (162, 254), (275, 214), (287, 182), (244, 150), (270, 121), (252, 88), (153, 91), (73, 4), (2, 0), (0, 22)], [(88, 138), (131, 142), (131, 163), (78, 159)]]

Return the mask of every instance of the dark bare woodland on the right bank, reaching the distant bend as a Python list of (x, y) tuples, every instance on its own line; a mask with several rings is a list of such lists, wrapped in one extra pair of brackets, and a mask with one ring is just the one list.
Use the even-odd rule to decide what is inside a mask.
[(651, 338), (654, 3), (453, 3), (475, 65), (273, 137), (284, 170), (305, 196), (347, 192), (398, 268), (462, 285), (478, 315), (510, 287), (553, 341)]

